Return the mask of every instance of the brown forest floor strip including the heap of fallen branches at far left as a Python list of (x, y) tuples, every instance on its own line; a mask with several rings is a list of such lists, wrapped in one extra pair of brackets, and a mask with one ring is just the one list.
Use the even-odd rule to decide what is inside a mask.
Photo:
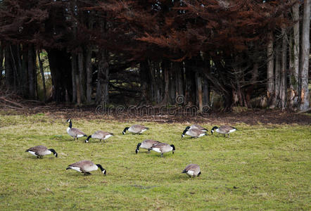
[[(94, 120), (118, 120), (121, 122), (141, 121), (159, 123), (201, 123), (201, 124), (311, 124), (311, 114), (292, 113), (289, 111), (269, 109), (237, 108), (231, 113), (209, 110), (204, 115), (189, 113), (183, 107), (157, 108), (152, 107), (144, 114), (141, 107), (116, 108), (103, 112), (98, 106), (75, 107), (70, 104), (42, 103), (39, 101), (25, 101), (13, 94), (0, 91), (0, 114), (3, 115), (33, 115), (44, 114), (53, 118)], [(135, 110), (136, 109), (136, 110)], [(240, 111), (239, 111), (240, 110)], [(147, 113), (147, 115), (146, 115)]]

